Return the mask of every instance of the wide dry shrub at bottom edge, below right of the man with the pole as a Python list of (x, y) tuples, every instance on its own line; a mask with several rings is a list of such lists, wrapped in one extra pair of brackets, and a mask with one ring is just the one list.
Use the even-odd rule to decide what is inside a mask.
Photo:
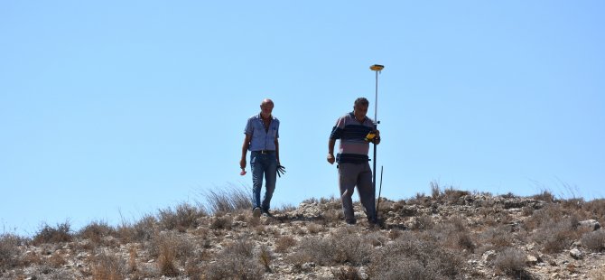
[(405, 234), (375, 251), (368, 275), (372, 279), (445, 279), (461, 274), (464, 266), (458, 251)]

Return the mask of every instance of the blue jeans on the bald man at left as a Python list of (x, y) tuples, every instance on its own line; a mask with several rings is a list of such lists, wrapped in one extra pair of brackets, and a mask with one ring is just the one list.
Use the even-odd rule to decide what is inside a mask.
[[(253, 151), (250, 154), (250, 167), (252, 168), (252, 207), (269, 210), (277, 176), (275, 152), (262, 154)], [(260, 191), (263, 188), (263, 176), (265, 177), (265, 197), (261, 201)]]

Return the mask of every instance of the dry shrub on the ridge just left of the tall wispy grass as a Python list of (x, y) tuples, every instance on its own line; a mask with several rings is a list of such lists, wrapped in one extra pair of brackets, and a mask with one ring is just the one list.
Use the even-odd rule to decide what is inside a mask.
[(198, 209), (189, 203), (181, 203), (172, 210), (167, 208), (159, 210), (159, 221), (163, 229), (177, 229), (181, 232), (185, 229), (195, 228), (198, 226), (198, 219), (206, 216), (206, 211)]

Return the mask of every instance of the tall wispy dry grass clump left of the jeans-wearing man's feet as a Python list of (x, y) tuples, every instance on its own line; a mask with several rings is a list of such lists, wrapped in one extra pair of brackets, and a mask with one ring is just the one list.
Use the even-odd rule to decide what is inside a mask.
[[(251, 190), (251, 189), (250, 189)], [(250, 191), (244, 191), (243, 187), (229, 185), (227, 188), (219, 191), (203, 191), (202, 196), (205, 197), (206, 207), (211, 213), (230, 213), (237, 210), (252, 209), (252, 201), (250, 201)]]

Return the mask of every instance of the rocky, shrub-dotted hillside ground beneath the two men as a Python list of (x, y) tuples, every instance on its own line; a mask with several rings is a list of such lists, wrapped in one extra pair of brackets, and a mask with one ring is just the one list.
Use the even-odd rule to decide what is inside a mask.
[(182, 204), (118, 227), (3, 234), (1, 279), (605, 279), (605, 200), (433, 188), (380, 202), (371, 226), (340, 201), (255, 219)]

